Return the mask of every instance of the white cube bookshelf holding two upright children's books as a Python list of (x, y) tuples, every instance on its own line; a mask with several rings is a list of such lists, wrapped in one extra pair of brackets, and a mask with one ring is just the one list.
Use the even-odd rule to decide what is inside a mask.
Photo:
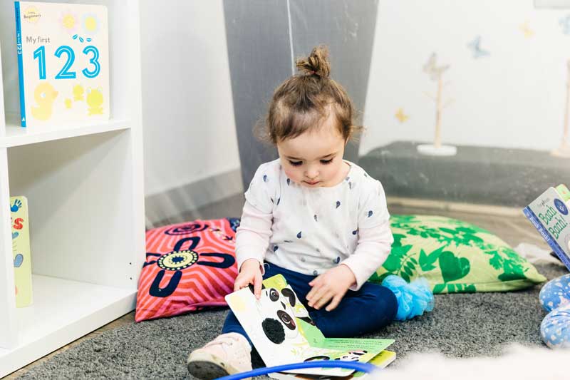
[[(109, 12), (108, 122), (21, 128), (14, 3), (0, 1), (0, 377), (135, 308), (144, 262), (137, 0)], [(16, 308), (9, 197), (25, 195), (33, 304)]]

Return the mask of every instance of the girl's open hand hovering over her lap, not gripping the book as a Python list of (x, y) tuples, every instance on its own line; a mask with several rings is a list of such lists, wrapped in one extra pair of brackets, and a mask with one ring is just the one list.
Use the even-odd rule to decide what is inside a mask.
[(330, 312), (338, 306), (348, 288), (354, 283), (356, 283), (356, 277), (346, 265), (338, 265), (338, 267), (328, 269), (309, 282), (309, 285), (313, 287), (306, 297), (309, 306), (318, 310), (330, 301), (331, 303), (325, 309)]

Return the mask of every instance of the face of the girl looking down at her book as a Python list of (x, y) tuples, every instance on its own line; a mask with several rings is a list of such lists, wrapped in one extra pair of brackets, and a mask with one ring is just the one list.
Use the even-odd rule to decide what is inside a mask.
[(332, 119), (325, 120), (321, 128), (277, 143), (281, 165), (294, 183), (328, 188), (341, 183), (346, 175), (346, 141)]

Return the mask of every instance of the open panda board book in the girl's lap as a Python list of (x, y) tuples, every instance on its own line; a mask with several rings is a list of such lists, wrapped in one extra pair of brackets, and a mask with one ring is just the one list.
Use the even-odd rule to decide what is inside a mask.
[[(260, 299), (252, 287), (228, 294), (226, 301), (266, 366), (313, 360), (371, 361), (393, 339), (326, 338), (285, 278), (264, 279)], [(354, 370), (311, 368), (294, 374), (350, 376)]]

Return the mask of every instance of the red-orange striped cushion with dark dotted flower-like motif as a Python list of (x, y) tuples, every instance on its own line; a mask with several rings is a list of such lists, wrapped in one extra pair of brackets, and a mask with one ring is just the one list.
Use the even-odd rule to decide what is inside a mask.
[(226, 306), (237, 277), (238, 219), (195, 220), (148, 230), (135, 321)]

